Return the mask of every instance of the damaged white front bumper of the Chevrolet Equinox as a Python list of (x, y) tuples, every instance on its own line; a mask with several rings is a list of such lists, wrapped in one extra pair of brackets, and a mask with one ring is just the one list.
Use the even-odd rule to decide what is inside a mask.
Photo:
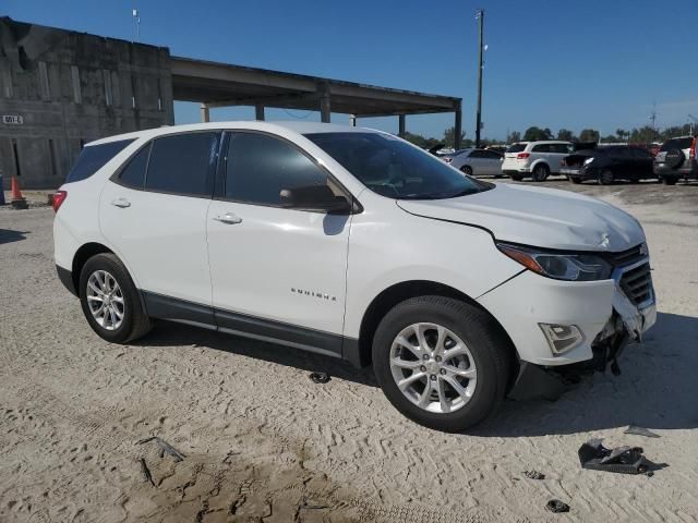
[[(507, 331), (519, 360), (541, 366), (587, 362), (594, 357), (597, 345), (618, 336), (639, 341), (657, 319), (653, 296), (638, 311), (615, 280), (570, 282), (531, 271), (480, 296), (478, 302)], [(541, 323), (575, 326), (583, 340), (569, 352), (555, 355)]]

